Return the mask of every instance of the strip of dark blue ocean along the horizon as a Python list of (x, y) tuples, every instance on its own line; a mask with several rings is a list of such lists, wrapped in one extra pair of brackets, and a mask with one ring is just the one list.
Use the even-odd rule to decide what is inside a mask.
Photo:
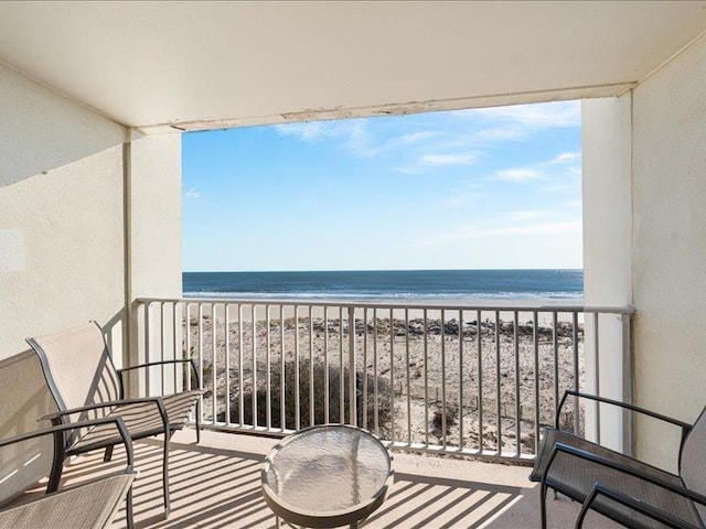
[(183, 272), (188, 298), (581, 300), (582, 270)]

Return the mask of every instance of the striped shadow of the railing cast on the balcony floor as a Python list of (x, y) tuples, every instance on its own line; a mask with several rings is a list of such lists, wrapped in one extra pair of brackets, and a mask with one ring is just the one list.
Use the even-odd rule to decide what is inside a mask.
[[(191, 431), (185, 432), (180, 439), (188, 440), (192, 434)], [(259, 441), (253, 441), (253, 438), (213, 432), (207, 435), (201, 444), (172, 442), (169, 519), (164, 519), (162, 511), (161, 440), (136, 442), (135, 466), (140, 472), (133, 488), (137, 529), (275, 527), (275, 516), (260, 493), (260, 464), (272, 442), (263, 442), (258, 453), (253, 446), (257, 446)], [(242, 446), (246, 446), (245, 450), (240, 450)], [(76, 458), (65, 467), (64, 486), (90, 479), (97, 474), (119, 471), (124, 465), (122, 456), (122, 450), (116, 449), (110, 463), (104, 463), (98, 452)], [(471, 468), (473, 463), (459, 461), (459, 464)], [(516, 486), (425, 475), (424, 461), (419, 473), (407, 471), (397, 471), (387, 500), (361, 527), (488, 527), (523, 495), (523, 489)], [(469, 471), (469, 474), (473, 472)], [(125, 511), (121, 510), (113, 527), (124, 528), (125, 521)], [(289, 526), (282, 523), (282, 527)]]

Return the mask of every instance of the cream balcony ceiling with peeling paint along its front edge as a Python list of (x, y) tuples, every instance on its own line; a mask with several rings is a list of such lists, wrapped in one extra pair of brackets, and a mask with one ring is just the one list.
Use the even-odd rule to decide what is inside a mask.
[(184, 130), (624, 93), (705, 1), (0, 2), (0, 62)]

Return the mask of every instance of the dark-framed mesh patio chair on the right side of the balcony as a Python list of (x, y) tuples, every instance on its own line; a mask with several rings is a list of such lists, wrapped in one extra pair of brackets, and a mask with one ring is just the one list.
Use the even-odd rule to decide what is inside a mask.
[[(678, 473), (672, 474), (560, 430), (568, 396), (642, 413), (681, 429)], [(582, 503), (580, 528), (589, 509), (631, 528), (704, 529), (706, 520), (706, 408), (694, 424), (633, 404), (568, 390), (556, 415), (556, 428), (544, 431), (530, 479), (542, 484), (542, 527), (547, 527), (547, 489)]]

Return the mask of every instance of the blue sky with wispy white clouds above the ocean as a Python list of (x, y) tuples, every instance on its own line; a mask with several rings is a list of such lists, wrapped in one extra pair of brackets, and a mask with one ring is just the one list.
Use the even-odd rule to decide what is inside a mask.
[(186, 133), (185, 271), (582, 268), (580, 102)]

